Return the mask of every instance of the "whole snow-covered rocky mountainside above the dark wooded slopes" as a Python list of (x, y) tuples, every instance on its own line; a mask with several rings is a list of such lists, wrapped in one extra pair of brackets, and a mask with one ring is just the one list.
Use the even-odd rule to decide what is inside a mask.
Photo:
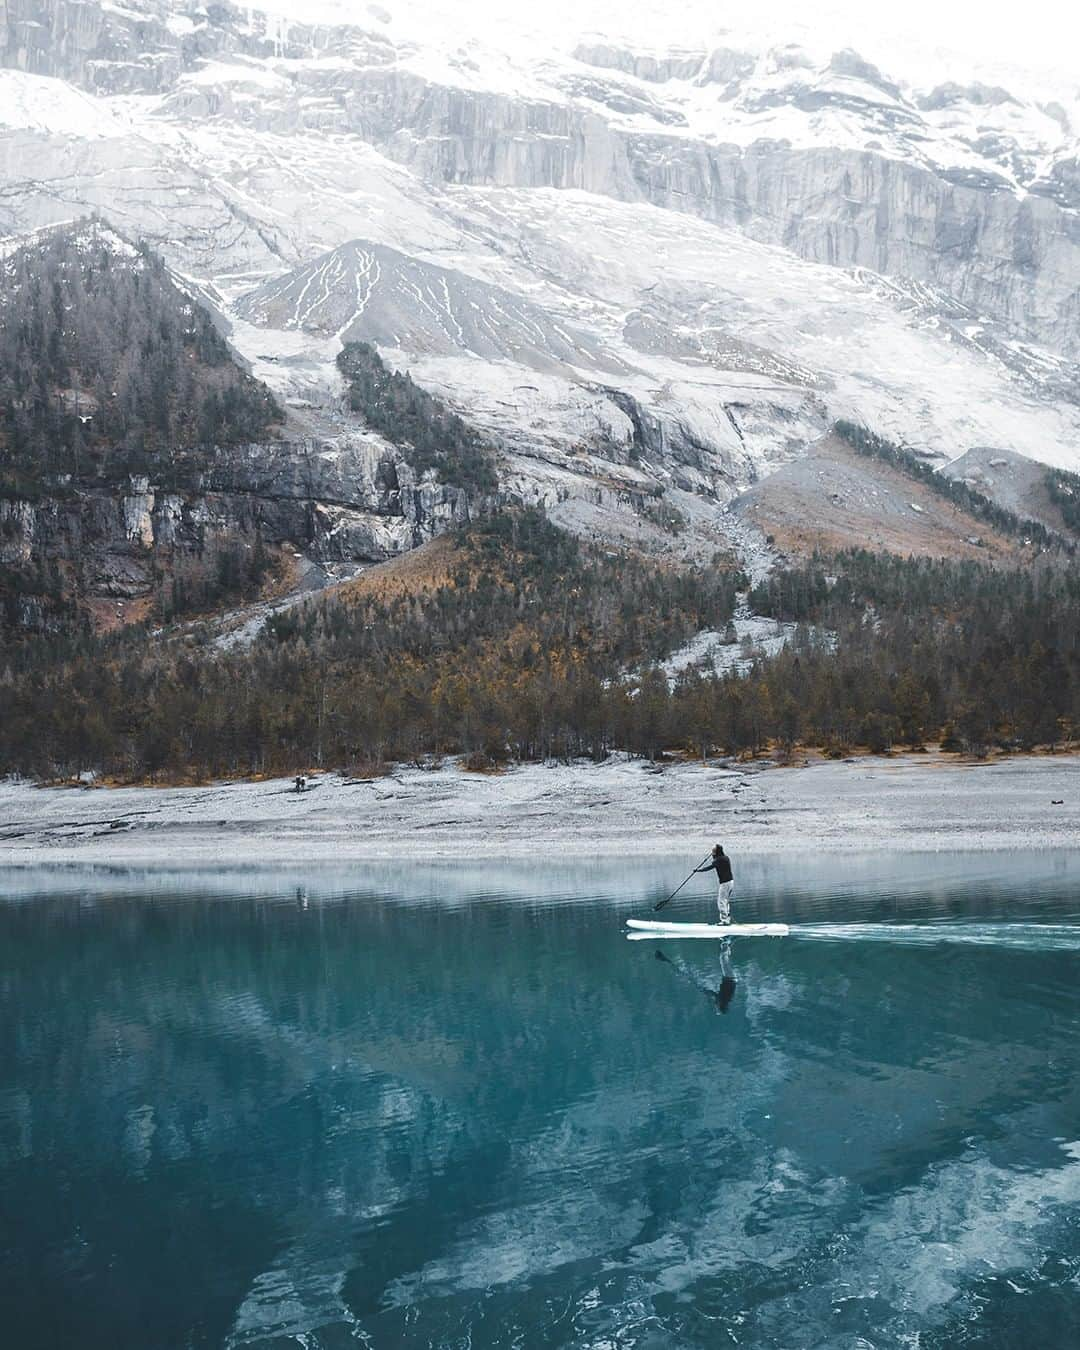
[(1080, 466), (1066, 84), (271, 7), (0, 0), (0, 230), (150, 239), (308, 413), (342, 340), (378, 344), (575, 518), (724, 501), (836, 417)]

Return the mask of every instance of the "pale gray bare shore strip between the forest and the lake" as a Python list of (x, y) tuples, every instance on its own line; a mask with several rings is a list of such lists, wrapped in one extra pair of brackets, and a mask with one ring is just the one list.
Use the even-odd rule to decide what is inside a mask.
[(328, 774), (302, 795), (289, 779), (82, 791), (0, 783), (0, 867), (648, 857), (701, 852), (716, 837), (749, 853), (1071, 848), (1080, 756), (663, 772), (616, 756), (493, 775), (447, 764), (371, 780)]

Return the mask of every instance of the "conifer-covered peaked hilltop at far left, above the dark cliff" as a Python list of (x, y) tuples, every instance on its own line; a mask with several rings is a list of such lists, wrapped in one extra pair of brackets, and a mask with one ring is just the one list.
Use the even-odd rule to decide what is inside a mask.
[(93, 221), (0, 262), (0, 495), (153, 474), (282, 420), (162, 261)]

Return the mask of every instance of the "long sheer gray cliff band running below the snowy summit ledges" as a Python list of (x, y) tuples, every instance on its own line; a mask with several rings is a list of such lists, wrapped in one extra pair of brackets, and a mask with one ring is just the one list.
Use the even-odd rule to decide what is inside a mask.
[[(802, 105), (824, 97), (805, 90)], [(582, 109), (425, 88), (396, 70), (364, 82), (351, 117), (431, 180), (644, 198), (813, 262), (929, 282), (1080, 355), (1080, 215), (1062, 209), (1077, 190), (1075, 163), (1018, 197), (990, 171), (934, 171), (872, 150), (639, 134)]]

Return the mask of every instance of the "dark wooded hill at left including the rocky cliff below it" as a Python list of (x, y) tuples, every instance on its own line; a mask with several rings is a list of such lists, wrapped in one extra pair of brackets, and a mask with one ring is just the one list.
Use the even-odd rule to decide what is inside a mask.
[(467, 518), (460, 485), (360, 420), (281, 427), (144, 247), (85, 221), (0, 269), (0, 628), (209, 610)]

